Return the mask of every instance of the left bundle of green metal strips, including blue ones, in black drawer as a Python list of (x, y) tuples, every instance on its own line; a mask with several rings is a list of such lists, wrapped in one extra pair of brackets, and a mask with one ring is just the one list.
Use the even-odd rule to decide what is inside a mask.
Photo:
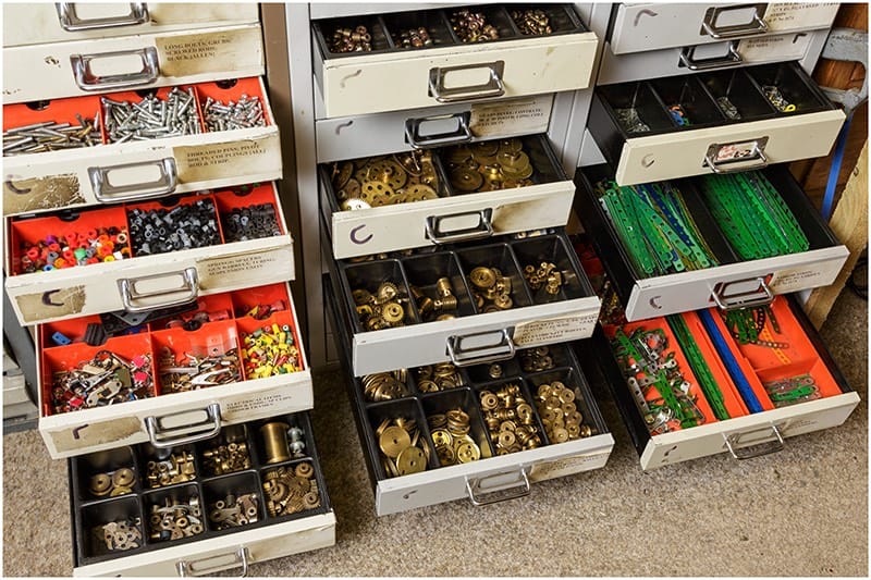
[(645, 276), (717, 266), (680, 192), (667, 182), (621, 187), (596, 185), (629, 259)]

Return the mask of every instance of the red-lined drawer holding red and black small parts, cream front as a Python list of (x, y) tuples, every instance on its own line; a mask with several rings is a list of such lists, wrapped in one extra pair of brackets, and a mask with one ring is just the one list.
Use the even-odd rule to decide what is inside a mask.
[[(257, 226), (259, 230), (248, 230), (247, 235), (243, 230), (231, 229), (233, 215), (238, 217), (246, 208), (260, 208), (274, 220)], [(160, 234), (159, 227), (171, 227), (173, 210), (191, 212), (191, 225), (182, 229), (188, 237), (205, 231), (210, 232), (210, 237), (200, 238), (197, 244), (191, 238), (185, 249), (177, 230)], [(195, 218), (201, 221), (199, 225), (194, 225)], [(139, 226), (134, 230), (137, 223)], [(152, 223), (159, 225), (149, 230)], [(99, 233), (111, 227), (128, 239), (119, 242), (115, 236), (112, 246), (118, 244), (121, 249), (112, 247), (113, 251), (100, 256), (105, 242)], [(293, 239), (274, 183), (81, 212), (9, 218), (7, 235), (5, 288), (22, 324), (184, 304), (198, 295), (283, 282), (293, 280), (295, 274)], [(157, 246), (158, 238), (164, 240), (163, 246)], [(90, 258), (97, 263), (72, 268), (58, 264), (58, 259), (77, 263), (74, 251), (83, 246), (97, 252)], [(49, 259), (54, 260), (56, 268), (50, 269)], [(50, 271), (41, 271), (45, 269)]]

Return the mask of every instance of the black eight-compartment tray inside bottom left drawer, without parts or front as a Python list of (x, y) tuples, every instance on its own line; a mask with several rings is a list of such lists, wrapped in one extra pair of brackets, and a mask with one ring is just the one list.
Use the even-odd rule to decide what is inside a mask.
[[(274, 421), (302, 429), (305, 449), (300, 454), (293, 455), (287, 448), (285, 452), (291, 458), (270, 464), (265, 453), (265, 439), (258, 430), (261, 425)], [(229, 443), (238, 445), (238, 449), (242, 448), (241, 444), (245, 444), (247, 464), (240, 460), (238, 469), (221, 474), (209, 471), (206, 455), (212, 449), (217, 449), (219, 445), (226, 446)], [(177, 464), (175, 462), (176, 458), (179, 459)], [(175, 466), (186, 466), (188, 462), (193, 464), (194, 473), (182, 476), (179, 470), (174, 470)], [(309, 464), (314, 468), (310, 479), (317, 482), (319, 504), (311, 508), (303, 506), (303, 509), (294, 514), (270, 514), (267, 508), (270, 494), (263, 489), (263, 483), (268, 481), (267, 476), (280, 467), (293, 469), (299, 464)], [(247, 467), (244, 467), (245, 465)], [(168, 469), (162, 470), (162, 467)], [(118, 496), (95, 496), (90, 492), (90, 484), (95, 477), (107, 471), (119, 471), (125, 468), (134, 473), (135, 482), (132, 491)], [(165, 485), (151, 486), (148, 474), (163, 472), (173, 473), (176, 481)], [(332, 510), (323, 472), (320, 468), (320, 456), (315, 445), (311, 422), (306, 412), (225, 427), (220, 434), (196, 445), (158, 449), (144, 443), (71, 458), (69, 459), (69, 478), (73, 554), (76, 568), (144, 553), (159, 554), (162, 548), (179, 544), (195, 545), (199, 541), (232, 535), (234, 532), (269, 528), (275, 523), (327, 514)], [(228, 494), (236, 496), (254, 494), (257, 505), (256, 521), (218, 529), (218, 523), (212, 521), (210, 511), (214, 508), (214, 502), (224, 499)], [(150, 518), (154, 515), (151, 506), (160, 506), (167, 498), (187, 499), (192, 495), (198, 498), (200, 505), (201, 530), (194, 535), (173, 540), (150, 538), (152, 531)], [(138, 542), (139, 547), (109, 551), (106, 548), (102, 538), (94, 534), (94, 527), (120, 518), (139, 519), (138, 527), (142, 534)], [(193, 525), (193, 522), (191, 523)], [(192, 551), (196, 550), (192, 546)], [(156, 557), (159, 558), (159, 556)]]

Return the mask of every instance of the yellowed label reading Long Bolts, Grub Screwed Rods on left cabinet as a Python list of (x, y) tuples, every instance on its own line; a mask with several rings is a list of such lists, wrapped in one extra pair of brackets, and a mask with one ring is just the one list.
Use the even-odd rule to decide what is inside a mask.
[(220, 73), (257, 66), (262, 61), (259, 27), (158, 36), (155, 45), (163, 76)]

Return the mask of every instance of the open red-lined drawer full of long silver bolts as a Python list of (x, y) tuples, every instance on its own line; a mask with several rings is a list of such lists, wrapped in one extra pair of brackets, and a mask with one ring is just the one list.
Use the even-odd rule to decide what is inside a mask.
[(4, 215), (282, 176), (259, 77), (4, 104), (3, 132)]

